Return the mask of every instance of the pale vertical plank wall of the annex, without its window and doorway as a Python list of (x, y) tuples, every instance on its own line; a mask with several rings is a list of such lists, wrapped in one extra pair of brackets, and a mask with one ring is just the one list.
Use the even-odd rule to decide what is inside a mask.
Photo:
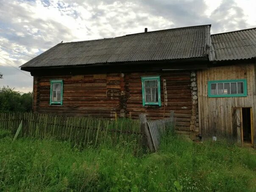
[[(198, 71), (198, 108), (200, 134), (220, 131), (232, 134), (232, 108), (252, 107), (253, 122), (256, 122), (256, 89), (254, 64), (237, 64), (226, 67), (211, 67)], [(207, 83), (214, 80), (247, 79), (247, 97), (208, 97)], [(256, 130), (256, 123), (254, 123)]]

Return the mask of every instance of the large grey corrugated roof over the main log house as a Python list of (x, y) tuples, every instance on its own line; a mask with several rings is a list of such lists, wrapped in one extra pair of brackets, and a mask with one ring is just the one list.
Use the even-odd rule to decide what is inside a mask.
[(21, 67), (50, 67), (206, 57), (211, 25), (58, 44)]

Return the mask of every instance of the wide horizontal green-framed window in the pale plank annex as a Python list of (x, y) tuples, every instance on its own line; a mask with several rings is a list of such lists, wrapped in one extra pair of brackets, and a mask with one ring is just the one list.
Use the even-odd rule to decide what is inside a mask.
[(208, 81), (208, 97), (246, 97), (247, 80)]

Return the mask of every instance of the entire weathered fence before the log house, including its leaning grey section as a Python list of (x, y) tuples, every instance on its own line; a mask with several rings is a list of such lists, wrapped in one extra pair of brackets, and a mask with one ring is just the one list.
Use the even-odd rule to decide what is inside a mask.
[[(161, 136), (175, 126), (171, 111), (170, 118), (147, 121), (146, 115), (139, 120), (119, 118), (111, 121), (92, 117), (64, 117), (39, 113), (0, 113), (0, 128), (8, 129), (17, 136), (32, 138), (56, 138), (82, 147), (97, 146), (111, 138), (114, 143), (134, 142), (134, 149), (147, 147), (156, 151)], [(19, 127), (20, 133), (17, 133)]]

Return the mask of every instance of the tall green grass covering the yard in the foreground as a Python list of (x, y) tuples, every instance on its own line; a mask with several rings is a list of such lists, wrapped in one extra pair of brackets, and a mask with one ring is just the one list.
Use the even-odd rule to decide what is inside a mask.
[(256, 153), (169, 134), (157, 153), (131, 143), (79, 150), (0, 131), (0, 191), (256, 191)]

